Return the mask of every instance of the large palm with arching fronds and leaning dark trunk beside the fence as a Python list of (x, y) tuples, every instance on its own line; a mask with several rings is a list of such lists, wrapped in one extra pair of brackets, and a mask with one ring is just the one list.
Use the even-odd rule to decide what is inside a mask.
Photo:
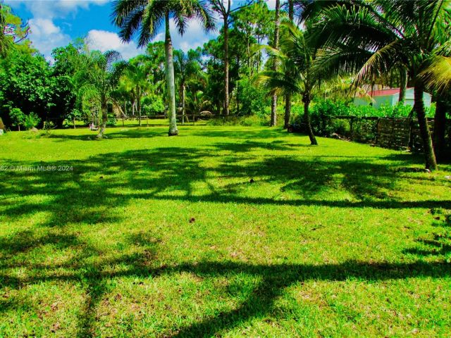
[(407, 70), (414, 87), (426, 168), (437, 169), (423, 92), (426, 86), (440, 86), (451, 78), (451, 72), (435, 72), (451, 56), (451, 49), (443, 48), (451, 36), (450, 3), (322, 1), (304, 6), (304, 18), (313, 21), (312, 36), (323, 49), (319, 68), (329, 74), (357, 73), (358, 84), (395, 69)]

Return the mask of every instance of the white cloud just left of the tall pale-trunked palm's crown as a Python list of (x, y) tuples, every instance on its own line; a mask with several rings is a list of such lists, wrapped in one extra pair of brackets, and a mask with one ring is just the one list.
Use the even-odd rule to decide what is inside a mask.
[(87, 33), (86, 42), (89, 49), (98, 49), (101, 52), (111, 49), (118, 51), (125, 60), (142, 53), (140, 49), (137, 49), (135, 42), (124, 44), (116, 33), (105, 30), (90, 30)]

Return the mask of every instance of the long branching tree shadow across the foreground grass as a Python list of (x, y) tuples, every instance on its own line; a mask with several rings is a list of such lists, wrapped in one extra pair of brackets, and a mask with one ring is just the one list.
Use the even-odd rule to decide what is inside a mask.
[[(17, 241), (17, 242), (16, 242)], [(174, 263), (174, 265), (158, 265), (159, 239), (151, 234), (140, 233), (125, 239), (124, 244), (135, 246), (134, 253), (119, 254), (115, 258), (104, 258), (101, 253), (92, 250), (88, 244), (72, 235), (61, 237), (57, 241), (65, 247), (74, 249), (78, 254), (69, 262), (57, 267), (24, 263), (23, 273), (12, 276), (2, 269), (0, 283), (2, 288), (19, 289), (43, 282), (81, 283), (85, 291), (85, 304), (78, 317), (78, 337), (96, 336), (95, 324), (99, 320), (97, 308), (107, 293), (114, 288), (112, 280), (118, 277), (133, 277), (140, 283), (148, 278), (174, 276), (181, 273), (192, 273), (198, 277), (216, 278), (221, 276), (248, 275), (259, 277), (259, 283), (247, 294), (244, 301), (230, 311), (217, 315), (209, 315), (187, 326), (168, 329), (166, 337), (212, 337), (237, 325), (247, 323), (255, 318), (264, 318), (274, 312), (274, 303), (285, 289), (293, 284), (307, 281), (345, 281), (350, 278), (360, 282), (380, 282), (414, 277), (450, 277), (449, 263), (367, 263), (362, 261), (345, 261), (338, 264), (251, 264), (240, 261), (202, 261), (200, 263)], [(39, 244), (37, 244), (39, 243)], [(54, 237), (41, 237), (32, 241), (35, 249), (54, 244)], [(11, 239), (0, 239), (0, 255), (10, 255), (8, 246), (23, 246), (20, 234)], [(82, 249), (80, 249), (82, 248)], [(30, 246), (28, 246), (30, 249)], [(22, 253), (26, 256), (27, 253)], [(92, 258), (97, 258), (93, 260)], [(25, 260), (26, 261), (26, 260)], [(94, 263), (93, 263), (94, 261)], [(121, 269), (116, 267), (120, 266)], [(61, 269), (65, 273), (61, 272)], [(33, 274), (27, 277), (27, 273)], [(14, 299), (1, 299), (0, 313), (11, 309), (32, 311), (33, 304), (18, 303)]]

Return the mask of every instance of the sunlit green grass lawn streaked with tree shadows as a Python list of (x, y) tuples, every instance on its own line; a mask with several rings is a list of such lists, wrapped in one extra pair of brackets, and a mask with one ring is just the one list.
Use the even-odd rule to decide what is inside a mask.
[(0, 137), (0, 337), (450, 337), (450, 166), (166, 132)]

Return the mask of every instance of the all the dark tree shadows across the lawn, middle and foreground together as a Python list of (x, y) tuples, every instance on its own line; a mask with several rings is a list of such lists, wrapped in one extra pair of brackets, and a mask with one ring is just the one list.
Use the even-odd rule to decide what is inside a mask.
[[(166, 132), (166, 131), (163, 131)], [(162, 132), (162, 133), (163, 133)], [(277, 131), (272, 131), (276, 133)], [(140, 131), (111, 133), (111, 138), (140, 137)], [(146, 135), (148, 130), (143, 131)], [(158, 132), (155, 132), (159, 134)], [(197, 136), (205, 134), (199, 130)], [(240, 138), (233, 132), (206, 132), (209, 137)], [(255, 132), (250, 137), (268, 137), (267, 132)], [(278, 133), (278, 132), (277, 132)], [(247, 135), (246, 138), (248, 138)], [(346, 261), (339, 264), (280, 264), (254, 265), (235, 261), (204, 261), (159, 265), (158, 237), (142, 232), (125, 239), (123, 246), (135, 251), (116, 256), (105, 256), (98, 249), (83, 241), (76, 233), (67, 233), (68, 224), (115, 223), (122, 221), (113, 211), (127, 206), (135, 199), (152, 201), (198, 201), (212, 204), (255, 204), (274, 206), (326, 206), (330, 208), (451, 208), (451, 200), (404, 201), (388, 192), (397, 182), (405, 179), (405, 173), (393, 171), (393, 162), (411, 164), (410, 157), (387, 156), (385, 161), (371, 161), (370, 157), (353, 156), (261, 156), (255, 158), (252, 151), (258, 149), (285, 151), (292, 145), (283, 142), (258, 142), (247, 140), (240, 144), (213, 143), (196, 149), (162, 147), (158, 149), (111, 152), (92, 156), (85, 160), (63, 163), (28, 162), (7, 165), (66, 165), (69, 172), (10, 171), (0, 172), (0, 191), (3, 197), (2, 213), (8, 218), (31, 218), (44, 213), (42, 226), (48, 226), (48, 234), (29, 230), (9, 237), (0, 237), (0, 285), (1, 288), (19, 289), (27, 285), (47, 281), (78, 282), (85, 288), (85, 305), (78, 318), (78, 336), (94, 336), (96, 311), (104, 296), (111, 291), (111, 280), (118, 277), (137, 277), (145, 280), (159, 275), (177, 275), (190, 272), (199, 277), (238, 275), (244, 273), (260, 277), (260, 282), (245, 301), (232, 311), (204, 318), (185, 327), (174, 327), (168, 335), (173, 337), (201, 337), (220, 334), (252, 318), (262, 318), (273, 311), (274, 302), (292, 284), (309, 280), (343, 281), (356, 278), (362, 281), (383, 281), (408, 277), (450, 276), (450, 264), (426, 263), (368, 263)], [(231, 152), (214, 163), (209, 158)], [(379, 158), (381, 159), (381, 158)], [(259, 184), (278, 184), (280, 189), (292, 193), (292, 199), (278, 200), (271, 196), (246, 196), (252, 189), (249, 178)], [(232, 179), (228, 184), (211, 184), (211, 180)], [(428, 180), (423, 176), (409, 176), (409, 180)], [(202, 196), (195, 194), (195, 184), (205, 184)], [(431, 180), (431, 184), (434, 182)], [(330, 199), (319, 192), (336, 187), (352, 199)], [(174, 194), (173, 192), (180, 192)], [(333, 197), (333, 196), (332, 196)], [(437, 239), (433, 239), (436, 241)], [(436, 242), (425, 243), (437, 246)], [(44, 246), (56, 250), (70, 249), (74, 256), (57, 265), (33, 261), (36, 252)], [(32, 252), (34, 252), (32, 254)], [(450, 246), (440, 246), (440, 254), (450, 252)], [(420, 256), (424, 253), (416, 252)], [(45, 257), (44, 257), (45, 258)], [(22, 268), (21, 275), (10, 269)], [(120, 268), (118, 268), (120, 267)], [(57, 270), (58, 269), (58, 270)], [(14, 299), (1, 299), (0, 313), (21, 304)]]

